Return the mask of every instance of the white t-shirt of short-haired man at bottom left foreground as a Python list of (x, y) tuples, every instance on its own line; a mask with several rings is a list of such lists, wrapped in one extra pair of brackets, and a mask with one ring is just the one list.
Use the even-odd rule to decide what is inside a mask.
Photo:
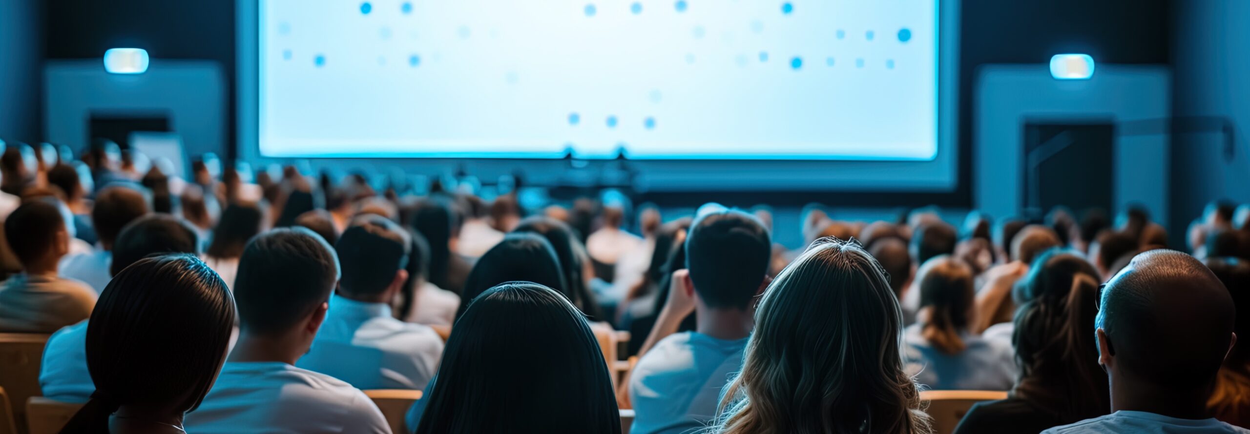
[(228, 362), (184, 420), (196, 434), (390, 434), (364, 392), (281, 362)]

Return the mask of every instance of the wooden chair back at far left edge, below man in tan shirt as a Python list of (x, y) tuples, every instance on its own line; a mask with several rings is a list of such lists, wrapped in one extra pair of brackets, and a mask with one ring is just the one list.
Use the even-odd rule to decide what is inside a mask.
[(9, 412), (16, 427), (26, 427), (26, 410), (21, 408), (30, 397), (41, 397), (39, 365), (49, 334), (0, 333), (0, 388), (9, 394)]

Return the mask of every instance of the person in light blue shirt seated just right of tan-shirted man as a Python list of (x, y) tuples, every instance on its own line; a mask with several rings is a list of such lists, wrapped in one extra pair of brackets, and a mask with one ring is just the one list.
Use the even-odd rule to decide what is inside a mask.
[(112, 278), (109, 264), (112, 262), (112, 243), (121, 228), (148, 215), (148, 200), (144, 193), (126, 186), (111, 186), (95, 196), (91, 208), (91, 224), (95, 227), (95, 252), (75, 254), (61, 259), (61, 274), (71, 279), (86, 282), (96, 292), (104, 291)]

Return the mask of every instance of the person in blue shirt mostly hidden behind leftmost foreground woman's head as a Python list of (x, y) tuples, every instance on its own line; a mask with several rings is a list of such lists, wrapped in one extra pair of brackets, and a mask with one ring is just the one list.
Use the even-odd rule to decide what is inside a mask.
[[(168, 215), (152, 215), (128, 224), (116, 236), (110, 266), (114, 274), (145, 257), (160, 253), (199, 254), (195, 229)], [(85, 403), (95, 384), (86, 369), (88, 321), (52, 334), (44, 347), (39, 387), (44, 397), (62, 403)]]

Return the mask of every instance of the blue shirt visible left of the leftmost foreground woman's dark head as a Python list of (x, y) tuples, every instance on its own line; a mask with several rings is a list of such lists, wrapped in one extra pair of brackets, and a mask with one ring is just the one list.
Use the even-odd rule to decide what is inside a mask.
[(95, 393), (86, 369), (86, 324), (61, 328), (48, 339), (39, 367), (39, 388), (44, 397), (62, 403), (85, 403)]

